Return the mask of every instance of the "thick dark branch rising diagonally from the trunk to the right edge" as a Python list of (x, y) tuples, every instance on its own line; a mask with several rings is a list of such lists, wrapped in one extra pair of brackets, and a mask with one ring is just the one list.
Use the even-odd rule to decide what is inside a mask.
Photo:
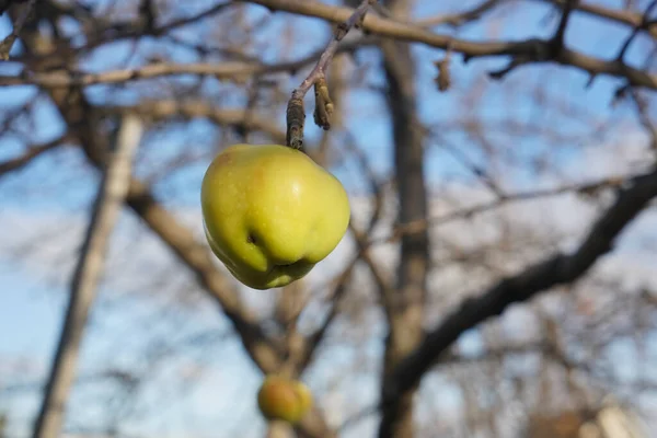
[(578, 279), (612, 249), (616, 237), (656, 196), (657, 171), (634, 178), (630, 187), (620, 191), (615, 203), (593, 224), (576, 252), (550, 257), (502, 280), (482, 296), (464, 301), (384, 381), (383, 417), (388, 420), (396, 417), (399, 394), (416, 385), (463, 332), (500, 314), (511, 303), (527, 301), (542, 290)]

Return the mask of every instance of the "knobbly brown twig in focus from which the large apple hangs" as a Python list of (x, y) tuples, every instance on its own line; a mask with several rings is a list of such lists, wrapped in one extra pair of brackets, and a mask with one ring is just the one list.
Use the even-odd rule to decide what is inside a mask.
[(328, 43), (320, 56), (318, 64), (301, 84), (292, 91), (292, 96), (287, 106), (287, 146), (290, 148), (303, 150), (303, 123), (306, 122), (303, 97), (306, 97), (306, 94), (313, 85), (315, 88), (314, 122), (325, 130), (331, 128), (333, 102), (331, 101), (328, 87), (326, 85), (326, 68), (337, 51), (339, 42), (347, 35), (351, 27), (360, 26), (365, 20), (368, 8), (376, 2), (377, 0), (362, 0), (351, 16), (344, 23), (337, 25), (335, 33), (333, 34), (333, 39), (331, 39), (331, 43)]

